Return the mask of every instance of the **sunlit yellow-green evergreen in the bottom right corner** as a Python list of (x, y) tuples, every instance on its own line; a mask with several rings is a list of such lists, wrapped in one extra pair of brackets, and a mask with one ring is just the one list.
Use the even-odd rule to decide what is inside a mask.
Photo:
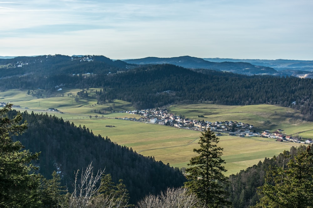
[(259, 188), (263, 195), (255, 207), (312, 207), (313, 152), (300, 149), (287, 167), (272, 167)]

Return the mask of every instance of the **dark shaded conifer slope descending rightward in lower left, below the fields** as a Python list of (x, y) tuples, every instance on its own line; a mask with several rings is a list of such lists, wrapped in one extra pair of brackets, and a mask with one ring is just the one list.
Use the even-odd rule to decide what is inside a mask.
[[(12, 111), (9, 116), (12, 118), (16, 113)], [(95, 136), (85, 126), (77, 127), (48, 114), (24, 112), (23, 120), (27, 120), (28, 129), (14, 140), (21, 141), (30, 152), (41, 152), (36, 164), (40, 167), (39, 172), (46, 178), (51, 177), (54, 170), (60, 172), (62, 185), (69, 189), (74, 181), (74, 171), (86, 168), (90, 162), (95, 170), (105, 169), (105, 174), (111, 174), (115, 183), (123, 179), (131, 203), (149, 193), (182, 186), (185, 181), (178, 168), (139, 155), (109, 138)]]

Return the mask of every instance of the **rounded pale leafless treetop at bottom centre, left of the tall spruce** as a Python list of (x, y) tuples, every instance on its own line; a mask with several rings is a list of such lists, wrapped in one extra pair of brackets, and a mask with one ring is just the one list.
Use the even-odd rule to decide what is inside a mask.
[(146, 196), (139, 201), (137, 208), (192, 208), (199, 203), (197, 196), (188, 192), (187, 188), (167, 188), (161, 195)]

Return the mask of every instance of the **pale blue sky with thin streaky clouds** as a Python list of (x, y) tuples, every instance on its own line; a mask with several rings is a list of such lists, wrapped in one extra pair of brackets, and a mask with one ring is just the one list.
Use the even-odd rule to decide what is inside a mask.
[(313, 60), (312, 0), (0, 0), (0, 56)]

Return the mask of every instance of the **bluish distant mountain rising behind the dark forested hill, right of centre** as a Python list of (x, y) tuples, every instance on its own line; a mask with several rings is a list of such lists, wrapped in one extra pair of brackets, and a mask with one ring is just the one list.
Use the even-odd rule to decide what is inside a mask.
[(191, 69), (211, 69), (217, 71), (233, 72), (244, 75), (284, 75), (275, 69), (266, 66), (252, 65), (246, 62), (211, 62), (191, 56), (180, 56), (173, 58), (147, 57), (142, 59), (125, 60), (126, 63), (145, 64), (173, 64)]

